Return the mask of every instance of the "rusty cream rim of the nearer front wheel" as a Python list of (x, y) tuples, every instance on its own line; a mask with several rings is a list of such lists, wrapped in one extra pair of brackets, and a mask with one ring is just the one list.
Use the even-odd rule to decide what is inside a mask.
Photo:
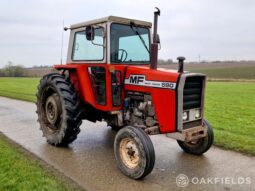
[(130, 138), (122, 139), (120, 142), (120, 156), (123, 163), (130, 169), (137, 167), (140, 161), (138, 147)]

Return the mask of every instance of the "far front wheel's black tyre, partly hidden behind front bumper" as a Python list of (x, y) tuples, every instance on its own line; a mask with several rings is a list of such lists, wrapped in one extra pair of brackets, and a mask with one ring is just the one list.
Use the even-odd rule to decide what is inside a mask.
[(201, 155), (208, 151), (212, 146), (214, 139), (213, 129), (208, 121), (203, 120), (203, 124), (207, 127), (207, 137), (191, 142), (183, 142), (177, 140), (178, 144), (185, 152), (194, 155)]

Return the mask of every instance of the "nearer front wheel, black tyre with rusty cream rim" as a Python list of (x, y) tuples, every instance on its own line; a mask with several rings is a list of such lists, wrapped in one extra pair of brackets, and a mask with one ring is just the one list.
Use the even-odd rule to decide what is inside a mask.
[(147, 176), (154, 167), (153, 144), (140, 128), (127, 126), (119, 130), (114, 140), (114, 154), (122, 173), (133, 179)]

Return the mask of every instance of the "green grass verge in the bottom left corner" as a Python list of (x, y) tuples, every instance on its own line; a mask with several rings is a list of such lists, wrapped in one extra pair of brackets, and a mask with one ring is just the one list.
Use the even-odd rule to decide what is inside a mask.
[(70, 190), (0, 136), (0, 190)]

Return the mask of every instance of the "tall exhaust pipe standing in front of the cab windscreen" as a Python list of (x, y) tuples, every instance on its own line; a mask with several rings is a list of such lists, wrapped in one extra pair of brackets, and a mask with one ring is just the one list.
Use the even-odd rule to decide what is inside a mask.
[(157, 8), (157, 11), (154, 12), (154, 28), (153, 28), (153, 43), (151, 44), (151, 65), (150, 68), (155, 70), (158, 65), (158, 16), (160, 16), (160, 10)]

